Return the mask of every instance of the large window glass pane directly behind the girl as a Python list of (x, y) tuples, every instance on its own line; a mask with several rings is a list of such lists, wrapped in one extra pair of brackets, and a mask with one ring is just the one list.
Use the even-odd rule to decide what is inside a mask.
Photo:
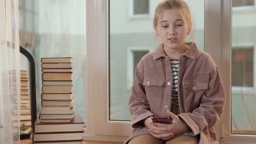
[[(134, 0), (144, 1), (144, 0)], [(194, 37), (187, 40), (204, 50), (204, 0), (185, 0), (195, 23)], [(161, 0), (151, 0), (149, 11), (154, 11)], [(153, 29), (154, 13), (149, 20), (130, 20), (127, 3), (131, 0), (109, 0), (109, 120), (130, 121), (128, 99), (134, 79), (134, 69), (142, 56), (154, 51), (161, 43)], [(143, 2), (141, 2), (143, 3)], [(138, 4), (139, 5), (139, 4)], [(122, 6), (122, 7), (120, 7)], [(140, 8), (143, 10), (143, 8)]]

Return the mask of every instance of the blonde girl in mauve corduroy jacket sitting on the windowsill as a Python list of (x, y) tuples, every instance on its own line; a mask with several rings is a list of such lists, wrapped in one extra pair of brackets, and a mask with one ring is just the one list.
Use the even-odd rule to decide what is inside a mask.
[[(183, 0), (164, 0), (154, 15), (162, 43), (135, 69), (129, 99), (134, 128), (125, 144), (217, 144), (213, 129), (225, 103), (225, 92), (213, 59), (185, 43), (192, 30)], [(171, 117), (172, 124), (152, 117)]]

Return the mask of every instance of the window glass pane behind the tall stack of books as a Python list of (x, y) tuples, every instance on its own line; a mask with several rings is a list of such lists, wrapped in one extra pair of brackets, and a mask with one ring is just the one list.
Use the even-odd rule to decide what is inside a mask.
[(36, 66), (37, 115), (41, 110), (41, 58), (72, 57), (75, 114), (86, 122), (85, 0), (22, 0), (20, 7), (20, 45), (31, 53)]

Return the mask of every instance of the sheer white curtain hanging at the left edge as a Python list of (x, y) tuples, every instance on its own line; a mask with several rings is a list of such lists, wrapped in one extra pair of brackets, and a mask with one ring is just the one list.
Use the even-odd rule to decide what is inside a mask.
[(20, 125), (18, 12), (18, 0), (0, 0), (0, 144), (20, 143), (20, 128), (13, 126)]

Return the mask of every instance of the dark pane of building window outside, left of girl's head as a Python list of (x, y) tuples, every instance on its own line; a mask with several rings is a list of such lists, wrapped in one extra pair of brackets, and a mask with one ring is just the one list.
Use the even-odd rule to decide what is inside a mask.
[(148, 0), (133, 0), (133, 13), (148, 14), (149, 3)]

